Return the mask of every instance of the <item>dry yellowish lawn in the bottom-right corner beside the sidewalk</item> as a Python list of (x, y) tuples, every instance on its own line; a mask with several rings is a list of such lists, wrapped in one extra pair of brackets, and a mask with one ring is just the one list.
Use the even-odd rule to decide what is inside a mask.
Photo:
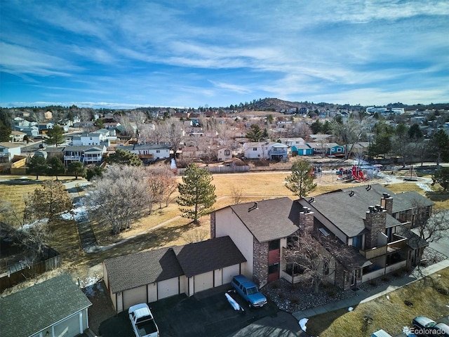
[(363, 337), (384, 329), (394, 336), (402, 332), (403, 326), (411, 326), (416, 316), (438, 319), (449, 315), (448, 294), (449, 268), (446, 268), (431, 275), (426, 284), (420, 280), (389, 293), (389, 299), (382, 296), (357, 305), (351, 312), (342, 309), (310, 317), (307, 333), (320, 337)]

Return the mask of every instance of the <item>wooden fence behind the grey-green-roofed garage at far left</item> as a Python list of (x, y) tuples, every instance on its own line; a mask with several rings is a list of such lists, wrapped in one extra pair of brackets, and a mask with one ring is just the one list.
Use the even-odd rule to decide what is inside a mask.
[(41, 260), (33, 265), (25, 267), (18, 267), (18, 265), (11, 266), (9, 268), (10, 272), (5, 273), (0, 277), (0, 292), (4, 291), (6, 288), (15, 286), (15, 284), (24, 282), (27, 279), (60, 267), (62, 262), (60, 253), (50, 247), (43, 252), (43, 258), (45, 258), (45, 260)]

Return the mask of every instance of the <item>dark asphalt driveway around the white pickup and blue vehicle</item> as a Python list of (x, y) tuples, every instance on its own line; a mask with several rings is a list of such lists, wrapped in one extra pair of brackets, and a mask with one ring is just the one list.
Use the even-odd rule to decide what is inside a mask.
[[(190, 298), (179, 295), (149, 303), (161, 336), (307, 336), (292, 315), (270, 301), (263, 308), (248, 308), (242, 298), (229, 293), (244, 308), (244, 312), (235, 311), (225, 297), (229, 289), (229, 285), (220, 286)], [(100, 334), (133, 337), (128, 312), (102, 322)]]

